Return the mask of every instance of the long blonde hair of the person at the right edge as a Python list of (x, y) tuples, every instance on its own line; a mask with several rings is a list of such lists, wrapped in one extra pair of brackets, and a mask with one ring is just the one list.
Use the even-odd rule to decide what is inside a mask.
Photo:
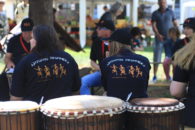
[(175, 53), (174, 64), (185, 70), (195, 68), (195, 34), (190, 43)]

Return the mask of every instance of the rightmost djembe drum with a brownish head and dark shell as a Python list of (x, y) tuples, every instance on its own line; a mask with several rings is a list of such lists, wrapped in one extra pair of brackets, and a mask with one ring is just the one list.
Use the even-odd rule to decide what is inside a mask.
[(137, 98), (128, 105), (129, 130), (179, 130), (183, 103), (170, 98)]

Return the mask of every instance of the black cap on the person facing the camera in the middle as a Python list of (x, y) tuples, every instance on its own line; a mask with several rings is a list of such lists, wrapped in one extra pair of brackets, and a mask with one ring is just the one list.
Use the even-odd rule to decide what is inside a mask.
[(102, 20), (99, 23), (97, 23), (96, 25), (97, 25), (97, 27), (105, 27), (111, 31), (115, 30), (114, 23), (111, 20)]

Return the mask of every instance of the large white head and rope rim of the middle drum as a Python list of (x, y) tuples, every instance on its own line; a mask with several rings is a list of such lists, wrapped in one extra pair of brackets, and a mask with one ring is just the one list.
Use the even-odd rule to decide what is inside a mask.
[(48, 100), (41, 106), (47, 116), (69, 118), (98, 114), (116, 114), (125, 110), (125, 103), (118, 98), (106, 96), (67, 96)]

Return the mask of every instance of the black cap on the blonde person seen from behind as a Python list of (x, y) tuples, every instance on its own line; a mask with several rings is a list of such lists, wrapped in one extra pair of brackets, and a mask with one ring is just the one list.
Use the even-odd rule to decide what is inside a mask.
[(117, 29), (110, 36), (111, 41), (117, 41), (121, 44), (131, 45), (131, 32), (130, 28)]

